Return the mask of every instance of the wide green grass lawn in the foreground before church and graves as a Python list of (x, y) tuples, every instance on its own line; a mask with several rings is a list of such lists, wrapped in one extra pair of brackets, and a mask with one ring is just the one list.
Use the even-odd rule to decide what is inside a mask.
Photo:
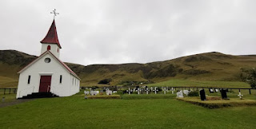
[(0, 128), (254, 128), (256, 126), (255, 106), (208, 109), (176, 100), (171, 96), (170, 99), (84, 100), (80, 93), (70, 97), (31, 100), (0, 108), (0, 115)]

